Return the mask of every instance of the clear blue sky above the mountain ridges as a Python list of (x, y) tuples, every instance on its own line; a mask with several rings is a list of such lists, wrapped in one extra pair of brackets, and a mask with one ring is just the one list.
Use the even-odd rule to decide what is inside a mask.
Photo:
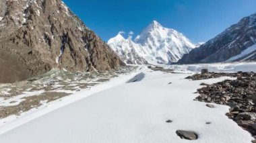
[(139, 34), (151, 21), (206, 42), (256, 12), (256, 0), (63, 0), (104, 41), (119, 31)]

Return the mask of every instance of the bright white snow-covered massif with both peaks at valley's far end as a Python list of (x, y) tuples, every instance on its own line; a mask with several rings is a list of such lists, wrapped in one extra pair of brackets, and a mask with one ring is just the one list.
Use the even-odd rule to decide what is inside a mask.
[(164, 28), (157, 21), (152, 21), (134, 42), (131, 37), (125, 39), (119, 33), (108, 40), (108, 45), (125, 61), (135, 63), (137, 58), (134, 57), (139, 55), (150, 64), (177, 62), (196, 47), (183, 34)]

